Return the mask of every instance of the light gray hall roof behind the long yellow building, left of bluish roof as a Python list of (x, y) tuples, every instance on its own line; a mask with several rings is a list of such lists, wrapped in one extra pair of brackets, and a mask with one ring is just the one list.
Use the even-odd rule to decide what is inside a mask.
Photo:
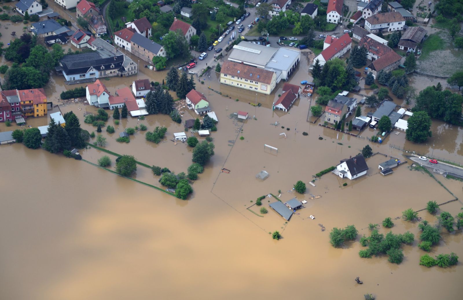
[(265, 66), (278, 49), (250, 42), (241, 42), (233, 46), (232, 52), (228, 55), (231, 61), (245, 62)]

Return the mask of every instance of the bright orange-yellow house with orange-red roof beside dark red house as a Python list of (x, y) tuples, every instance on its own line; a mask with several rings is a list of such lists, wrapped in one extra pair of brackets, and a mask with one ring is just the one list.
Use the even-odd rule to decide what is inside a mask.
[(19, 90), (19, 101), (24, 116), (44, 116), (47, 114), (47, 96), (43, 88)]

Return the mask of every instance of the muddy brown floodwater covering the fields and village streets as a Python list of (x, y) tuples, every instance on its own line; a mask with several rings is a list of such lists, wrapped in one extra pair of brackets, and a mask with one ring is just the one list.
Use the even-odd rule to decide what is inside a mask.
[[(139, 78), (150, 81), (162, 81), (165, 76), (165, 72), (141, 70)], [(307, 66), (301, 63), (291, 82), (307, 80), (306, 72)], [(209, 80), (205, 75), (205, 84), (197, 83), (197, 89), (206, 95), (219, 118), (218, 131), (212, 133), (215, 155), (193, 184), (194, 194), (188, 201), (63, 155), (21, 144), (0, 146), (2, 299), (234, 300), (277, 299), (288, 294), (294, 299), (362, 299), (366, 293), (375, 294), (376, 299), (401, 299), (402, 295), (410, 299), (459, 298), (463, 292), (461, 263), (449, 269), (419, 266), (424, 252), (416, 240), (403, 247), (405, 258), (400, 265), (388, 263), (387, 257), (358, 257), (362, 248), (358, 242), (346, 243), (341, 249), (328, 242), (333, 227), (354, 224), (360, 233), (358, 241), (361, 235), (369, 235), (369, 223), (400, 216), (407, 208), (425, 208), (430, 200), (442, 203), (454, 198), (427, 174), (409, 170), (408, 163), (383, 177), (377, 165), (387, 158), (377, 154), (367, 160), (370, 169), (364, 178), (350, 181), (328, 173), (315, 181), (315, 187), (308, 184), (314, 174), (356, 155), (367, 144), (374, 152), (405, 159), (402, 152), (389, 147), (408, 147), (404, 133), (372, 145), (368, 140), (338, 135), (318, 122), (306, 122), (307, 98), (298, 100), (288, 113), (272, 111), (281, 86), (270, 96), (257, 95), (256, 100), (254, 93), (221, 86), (214, 79), (215, 73), (210, 76)], [(135, 79), (111, 78), (104, 83), (113, 93)], [(63, 113), (73, 110), (83, 129), (96, 131), (83, 123), (84, 112), (95, 112), (96, 108), (58, 102), (63, 89), (75, 86), (66, 86), (62, 77), (53, 76), (52, 80), (45, 90), (50, 99), (56, 99), (54, 104), (60, 104)], [(209, 85), (222, 96), (208, 90)], [(249, 104), (255, 101), (262, 106)], [(230, 116), (238, 110), (255, 119), (238, 122)], [(186, 111), (183, 120), (190, 117), (195, 116)], [(33, 127), (46, 123), (46, 118), (27, 119), (27, 125)], [(168, 127), (166, 141), (153, 144), (142, 132), (131, 136), (129, 144), (115, 141), (120, 131), (140, 123), (148, 130)], [(114, 125), (113, 119), (107, 124)], [(457, 159), (461, 155), (460, 129), (439, 122), (433, 126), (433, 139), (441, 139), (434, 154)], [(186, 171), (191, 163), (191, 148), (169, 141), (174, 132), (183, 131), (183, 126), (169, 116), (151, 115), (144, 121), (129, 117), (115, 127), (112, 135), (104, 129), (102, 133), (107, 138), (106, 148), (113, 152), (131, 154), (176, 173)], [(3, 123), (0, 130), (6, 130)], [(241, 136), (244, 140), (239, 139)], [(324, 139), (319, 140), (319, 136)], [(278, 152), (265, 149), (264, 144), (278, 148)], [(413, 147), (431, 151), (426, 146)], [(106, 155), (94, 148), (80, 152), (94, 163)], [(223, 167), (231, 172), (221, 173)], [(265, 181), (255, 178), (262, 170), (270, 174)], [(134, 177), (159, 186), (158, 177), (142, 166)], [(436, 177), (463, 198), (460, 182)], [(297, 180), (307, 183), (306, 194), (288, 192)], [(274, 202), (273, 198), (263, 200), (263, 207), (269, 210), (263, 217), (246, 209), (257, 197), (276, 195), (278, 190), (282, 191), (282, 201), (294, 196), (308, 201), (288, 223), (269, 208), (268, 201)], [(311, 200), (310, 194), (321, 198)], [(462, 207), (457, 201), (441, 208), (455, 215)], [(259, 212), (256, 206), (250, 209)], [(309, 218), (311, 214), (315, 220)], [(419, 216), (436, 221), (425, 211)], [(326, 230), (321, 231), (319, 224)], [(418, 222), (399, 219), (394, 224), (394, 233), (419, 235)], [(282, 240), (271, 239), (269, 232), (275, 230), (282, 233)], [(380, 227), (380, 232), (387, 230)], [(463, 233), (443, 230), (442, 236), (432, 255), (453, 251), (463, 257)], [(363, 285), (354, 282), (357, 276)]]

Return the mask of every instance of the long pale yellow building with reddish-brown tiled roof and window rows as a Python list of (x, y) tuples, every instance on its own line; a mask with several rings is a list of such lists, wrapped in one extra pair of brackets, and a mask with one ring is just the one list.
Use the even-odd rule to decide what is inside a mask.
[(220, 83), (269, 95), (276, 86), (276, 74), (262, 68), (224, 61)]

